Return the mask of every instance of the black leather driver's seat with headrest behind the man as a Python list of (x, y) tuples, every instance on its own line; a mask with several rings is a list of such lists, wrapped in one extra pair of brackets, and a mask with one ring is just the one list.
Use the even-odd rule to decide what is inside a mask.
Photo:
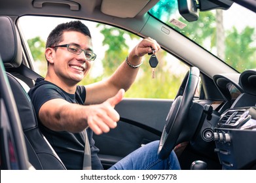
[[(65, 165), (38, 127), (33, 105), (18, 78), (38, 76), (22, 63), (22, 44), (16, 25), (8, 16), (0, 16), (0, 54), (16, 101), (26, 141), (27, 156), (35, 169), (65, 169)], [(31, 87), (30, 82), (30, 87)]]

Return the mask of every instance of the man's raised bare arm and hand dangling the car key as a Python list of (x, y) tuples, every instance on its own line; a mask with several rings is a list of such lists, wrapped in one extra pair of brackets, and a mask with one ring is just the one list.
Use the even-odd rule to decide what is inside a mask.
[[(152, 48), (157, 52), (160, 46), (151, 38), (143, 39), (130, 52), (128, 56), (129, 63), (138, 65), (141, 63), (141, 57), (152, 52)], [(134, 69), (124, 61), (110, 78), (86, 86), (85, 104), (102, 103), (109, 97), (113, 97), (120, 88), (123, 88), (125, 91), (128, 90), (136, 79), (138, 71), (139, 68)]]

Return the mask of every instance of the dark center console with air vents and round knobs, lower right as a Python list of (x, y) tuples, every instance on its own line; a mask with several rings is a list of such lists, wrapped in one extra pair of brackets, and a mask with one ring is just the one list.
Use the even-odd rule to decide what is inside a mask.
[(226, 110), (213, 134), (223, 169), (256, 169), (256, 107)]

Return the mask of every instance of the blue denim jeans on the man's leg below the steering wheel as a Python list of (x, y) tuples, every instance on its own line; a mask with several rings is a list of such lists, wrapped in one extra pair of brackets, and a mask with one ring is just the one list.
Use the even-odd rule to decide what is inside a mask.
[(157, 156), (159, 141), (154, 141), (138, 148), (109, 170), (179, 170), (179, 161), (174, 151), (166, 159)]

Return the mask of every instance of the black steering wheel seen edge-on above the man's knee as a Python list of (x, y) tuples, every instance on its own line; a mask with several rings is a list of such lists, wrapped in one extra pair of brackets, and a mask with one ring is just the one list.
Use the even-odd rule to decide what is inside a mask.
[(197, 67), (191, 67), (181, 83), (166, 118), (166, 125), (164, 125), (162, 131), (158, 146), (158, 156), (160, 159), (167, 158), (176, 145), (181, 129), (189, 114), (189, 108), (191, 107), (194, 93), (196, 92), (199, 75), (199, 69)]

